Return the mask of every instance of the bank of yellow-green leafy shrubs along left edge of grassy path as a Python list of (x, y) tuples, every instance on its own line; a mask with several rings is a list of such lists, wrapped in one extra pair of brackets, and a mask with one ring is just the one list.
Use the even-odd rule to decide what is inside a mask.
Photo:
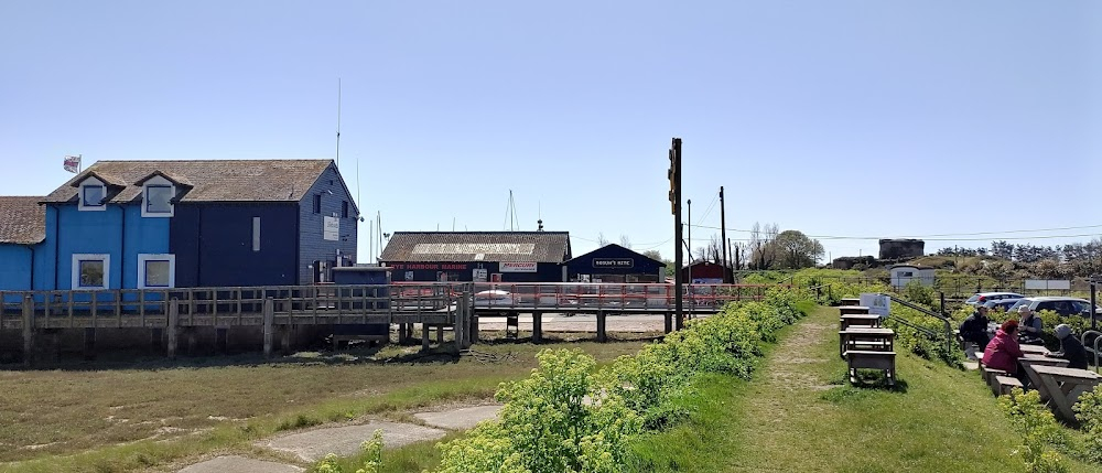
[(500, 420), (439, 445), (437, 471), (626, 471), (629, 440), (683, 416), (679, 400), (693, 378), (703, 373), (748, 378), (760, 354), (758, 343), (773, 340), (812, 307), (807, 291), (773, 289), (761, 302), (728, 304), (601, 370), (576, 350), (540, 352), (531, 376), (501, 385)]

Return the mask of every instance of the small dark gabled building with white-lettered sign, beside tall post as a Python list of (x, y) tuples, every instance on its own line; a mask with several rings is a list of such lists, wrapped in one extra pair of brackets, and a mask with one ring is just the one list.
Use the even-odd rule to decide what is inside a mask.
[(666, 282), (666, 264), (611, 244), (563, 264), (571, 281)]

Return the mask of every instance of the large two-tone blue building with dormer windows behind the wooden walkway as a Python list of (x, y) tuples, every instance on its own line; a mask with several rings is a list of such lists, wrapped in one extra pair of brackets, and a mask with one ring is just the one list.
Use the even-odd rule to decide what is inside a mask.
[(100, 161), (39, 203), (41, 235), (0, 241), (0, 290), (309, 284), (356, 261), (332, 160)]

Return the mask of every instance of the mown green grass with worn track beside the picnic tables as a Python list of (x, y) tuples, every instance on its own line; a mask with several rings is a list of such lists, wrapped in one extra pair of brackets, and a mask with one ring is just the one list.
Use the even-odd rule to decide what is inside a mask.
[(695, 383), (690, 420), (638, 442), (633, 470), (1022, 471), (1019, 438), (979, 375), (900, 353), (900, 387), (849, 386), (836, 316), (821, 309), (786, 329), (749, 383)]

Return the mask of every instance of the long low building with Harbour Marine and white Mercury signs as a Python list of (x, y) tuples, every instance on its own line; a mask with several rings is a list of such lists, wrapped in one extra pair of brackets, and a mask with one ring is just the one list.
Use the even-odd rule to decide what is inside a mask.
[(398, 232), (383, 265), (404, 281), (563, 282), (566, 232)]

